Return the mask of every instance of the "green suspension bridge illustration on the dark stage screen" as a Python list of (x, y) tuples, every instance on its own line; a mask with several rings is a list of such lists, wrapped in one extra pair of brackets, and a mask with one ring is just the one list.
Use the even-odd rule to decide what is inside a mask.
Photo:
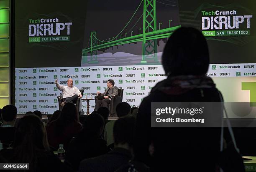
[[(161, 38), (167, 38), (169, 37), (177, 28), (180, 26), (174, 26), (170, 27), (170, 22), (172, 20), (169, 20), (169, 27), (160, 29), (160, 25), (162, 22), (159, 22), (159, 27), (156, 22), (156, 2), (157, 0), (141, 0), (141, 3), (138, 5), (136, 11), (134, 12), (133, 16), (138, 11), (139, 7), (143, 3), (143, 27), (138, 30), (138, 35), (133, 35), (133, 27), (137, 24), (137, 22), (141, 19), (141, 17), (138, 19), (135, 25), (133, 25), (132, 29), (125, 33), (125, 35), (121, 34), (123, 33), (123, 30), (125, 27), (131, 22), (133, 16), (128, 21), (128, 23), (125, 25), (123, 30), (121, 32), (112, 38), (109, 38), (109, 40), (99, 40), (97, 38), (97, 32), (92, 31), (90, 34), (90, 40), (88, 42), (88, 45), (86, 48), (82, 50), (82, 56), (87, 56), (88, 53), (90, 53), (90, 61), (89, 63), (98, 63), (97, 61), (97, 50), (105, 49), (108, 47), (113, 47), (117, 45), (123, 45), (133, 42), (142, 42), (142, 60), (141, 64), (147, 64), (155, 63), (158, 64), (157, 59), (157, 39)], [(160, 2), (161, 3), (161, 2)], [(174, 5), (173, 5), (174, 6)], [(141, 30), (141, 34), (140, 34)], [(127, 36), (127, 34), (131, 32), (130, 36)], [(90, 44), (89, 44), (90, 43)]]

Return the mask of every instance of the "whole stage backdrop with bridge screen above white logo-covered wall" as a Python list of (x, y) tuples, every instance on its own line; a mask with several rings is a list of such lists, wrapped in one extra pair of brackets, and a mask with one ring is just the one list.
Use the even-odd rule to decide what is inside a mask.
[[(184, 0), (139, 0), (123, 6), (118, 0), (81, 0), (74, 5), (77, 10), (51, 3), (56, 5), (47, 10), (31, 8), (29, 14), (16, 8), (18, 113), (58, 110), (57, 78), (61, 85), (72, 78), (87, 97), (104, 92), (107, 80), (113, 79), (124, 89), (123, 101), (139, 107), (156, 82), (166, 78), (162, 51), (180, 26), (196, 27), (205, 35), (211, 62), (207, 76), (213, 78), (224, 100), (255, 106), (253, 1), (200, 0), (189, 5)], [(84, 113), (86, 105), (82, 102)], [(90, 112), (94, 107), (92, 100)]]

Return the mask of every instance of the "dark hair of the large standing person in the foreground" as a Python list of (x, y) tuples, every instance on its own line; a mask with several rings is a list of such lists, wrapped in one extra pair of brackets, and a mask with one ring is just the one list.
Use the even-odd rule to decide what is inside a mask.
[(167, 75), (204, 75), (209, 67), (209, 51), (205, 37), (192, 27), (173, 32), (162, 55)]

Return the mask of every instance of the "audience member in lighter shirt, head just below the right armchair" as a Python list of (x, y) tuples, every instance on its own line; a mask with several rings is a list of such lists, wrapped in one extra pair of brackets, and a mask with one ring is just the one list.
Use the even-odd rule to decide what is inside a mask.
[[(131, 106), (127, 102), (121, 102), (116, 106), (116, 113), (118, 118), (125, 117), (129, 115), (131, 112)], [(116, 120), (111, 120), (108, 122), (105, 126), (104, 130), (104, 139), (107, 141), (107, 145), (110, 146), (110, 148), (113, 148), (114, 146), (114, 139), (113, 139), (113, 127)]]

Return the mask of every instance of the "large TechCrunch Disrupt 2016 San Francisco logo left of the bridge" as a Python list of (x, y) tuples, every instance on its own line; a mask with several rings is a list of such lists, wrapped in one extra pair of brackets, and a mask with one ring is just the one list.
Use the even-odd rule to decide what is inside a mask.
[(69, 41), (68, 35), (70, 35), (70, 26), (72, 25), (72, 22), (59, 22), (58, 18), (29, 19), (28, 21), (29, 42)]

